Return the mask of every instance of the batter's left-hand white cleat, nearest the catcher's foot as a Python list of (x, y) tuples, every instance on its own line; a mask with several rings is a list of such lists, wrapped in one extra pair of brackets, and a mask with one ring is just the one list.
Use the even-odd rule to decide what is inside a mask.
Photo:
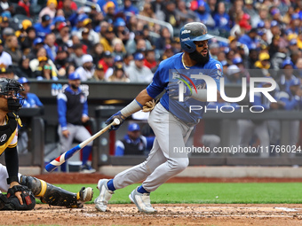
[(98, 183), (99, 196), (94, 200), (95, 207), (102, 212), (105, 212), (107, 209), (108, 201), (111, 199), (114, 191), (108, 190), (107, 182), (108, 179), (100, 179)]

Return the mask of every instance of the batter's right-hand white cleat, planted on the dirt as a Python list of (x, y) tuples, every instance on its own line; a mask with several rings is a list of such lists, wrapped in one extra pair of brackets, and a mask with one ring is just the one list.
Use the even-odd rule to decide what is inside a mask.
[(131, 200), (131, 202), (133, 202), (139, 208), (140, 212), (144, 212), (146, 214), (155, 213), (155, 208), (151, 206), (150, 194), (139, 193), (138, 188), (133, 190), (129, 195), (129, 199)]

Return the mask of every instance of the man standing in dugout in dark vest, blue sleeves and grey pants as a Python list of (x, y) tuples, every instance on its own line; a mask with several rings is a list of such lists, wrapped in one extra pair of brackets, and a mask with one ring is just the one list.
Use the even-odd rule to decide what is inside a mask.
[[(69, 150), (74, 139), (81, 143), (91, 137), (89, 131), (83, 126), (90, 118), (88, 116), (87, 97), (80, 89), (80, 84), (79, 74), (69, 74), (68, 87), (57, 97), (61, 152)], [(91, 150), (92, 142), (83, 147), (83, 159), (80, 168), (82, 173), (95, 172), (95, 169), (87, 164)], [(62, 165), (61, 170), (66, 171), (66, 162)]]

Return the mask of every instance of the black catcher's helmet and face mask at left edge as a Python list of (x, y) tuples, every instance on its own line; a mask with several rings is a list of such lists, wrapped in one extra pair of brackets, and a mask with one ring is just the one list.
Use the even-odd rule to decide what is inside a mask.
[(7, 99), (7, 107), (10, 112), (18, 112), (23, 105), (24, 97), (20, 92), (24, 88), (18, 81), (0, 78), (0, 95)]

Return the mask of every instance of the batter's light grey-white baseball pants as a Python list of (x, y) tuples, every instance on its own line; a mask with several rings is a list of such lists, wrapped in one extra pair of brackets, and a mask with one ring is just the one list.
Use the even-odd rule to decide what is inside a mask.
[(178, 175), (187, 168), (186, 154), (173, 155), (173, 147), (185, 147), (193, 127), (177, 120), (160, 103), (150, 113), (148, 118), (150, 127), (155, 132), (155, 142), (147, 160), (141, 164), (124, 170), (115, 175), (115, 189), (121, 189), (132, 183), (142, 183), (146, 191), (155, 191), (174, 175)]

